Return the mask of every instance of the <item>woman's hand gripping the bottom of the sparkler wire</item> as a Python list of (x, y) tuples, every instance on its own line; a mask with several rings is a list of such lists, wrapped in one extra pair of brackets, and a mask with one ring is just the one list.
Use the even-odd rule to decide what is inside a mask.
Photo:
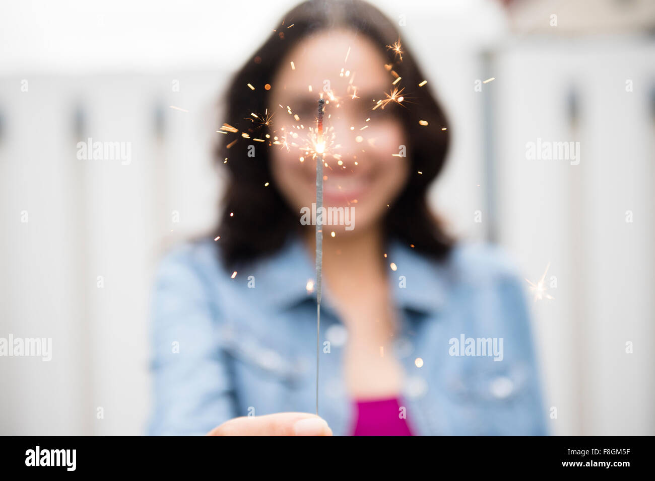
[(331, 436), (326, 421), (307, 412), (242, 416), (215, 427), (206, 436)]

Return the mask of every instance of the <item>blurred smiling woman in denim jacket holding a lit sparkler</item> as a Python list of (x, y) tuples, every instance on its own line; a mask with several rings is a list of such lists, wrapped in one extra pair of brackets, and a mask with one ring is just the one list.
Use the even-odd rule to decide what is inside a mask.
[[(309, 1), (234, 77), (223, 217), (157, 274), (151, 434), (545, 433), (521, 281), (426, 204), (449, 130), (399, 38), (371, 5)], [(343, 210), (323, 228), (316, 400), (320, 97), (324, 206)]]

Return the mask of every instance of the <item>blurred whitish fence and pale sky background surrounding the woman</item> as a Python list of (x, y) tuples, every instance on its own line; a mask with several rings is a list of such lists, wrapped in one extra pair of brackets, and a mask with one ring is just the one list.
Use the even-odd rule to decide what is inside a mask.
[[(52, 338), (0, 357), (0, 434), (144, 433), (153, 269), (217, 219), (219, 97), (293, 5), (0, 1), (0, 337)], [(655, 2), (375, 5), (450, 116), (434, 209), (526, 278), (550, 431), (655, 435)]]

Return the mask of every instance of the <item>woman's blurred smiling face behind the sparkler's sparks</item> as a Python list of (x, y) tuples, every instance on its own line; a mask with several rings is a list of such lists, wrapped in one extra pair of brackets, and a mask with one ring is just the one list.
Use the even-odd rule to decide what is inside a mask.
[[(394, 87), (384, 63), (377, 46), (350, 31), (305, 39), (282, 62), (269, 108), (282, 145), (272, 150), (271, 167), (274, 182), (299, 217), (302, 207), (311, 209), (316, 202), (315, 139), (309, 128), (316, 128), (321, 94), (326, 99), (323, 205), (354, 209), (346, 231), (361, 232), (380, 221), (405, 185), (409, 164), (399, 156), (405, 133), (394, 116), (403, 107), (372, 110)], [(330, 231), (344, 229), (329, 226)]]

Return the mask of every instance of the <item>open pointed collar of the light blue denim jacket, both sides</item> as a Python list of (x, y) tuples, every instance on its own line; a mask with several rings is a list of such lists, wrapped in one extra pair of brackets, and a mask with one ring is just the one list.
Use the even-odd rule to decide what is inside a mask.
[[(398, 240), (390, 240), (387, 249), (388, 266), (396, 265), (396, 271), (388, 270), (396, 307), (422, 313), (441, 310), (447, 300), (447, 263), (430, 260)], [(314, 257), (299, 236), (291, 236), (280, 251), (257, 262), (254, 272), (257, 287), (263, 287), (259, 298), (276, 310), (316, 302), (315, 289), (307, 290), (308, 281), (316, 283)], [(322, 306), (332, 308), (325, 290)]]

